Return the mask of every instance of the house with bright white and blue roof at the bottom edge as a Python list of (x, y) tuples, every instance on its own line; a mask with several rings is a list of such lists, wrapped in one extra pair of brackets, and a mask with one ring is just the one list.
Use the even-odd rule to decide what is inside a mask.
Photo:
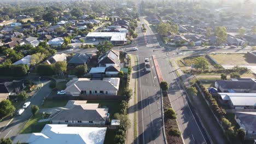
[(68, 127), (67, 124), (46, 124), (40, 133), (19, 134), (13, 143), (103, 144), (106, 131), (106, 127)]

